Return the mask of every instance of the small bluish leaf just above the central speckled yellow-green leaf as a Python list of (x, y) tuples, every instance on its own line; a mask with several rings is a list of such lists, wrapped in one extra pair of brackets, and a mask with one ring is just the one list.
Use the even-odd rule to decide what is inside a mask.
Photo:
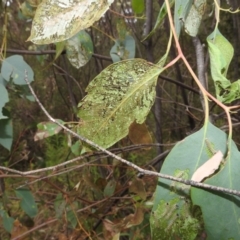
[(110, 51), (113, 62), (131, 59), (135, 57), (135, 40), (132, 36), (126, 36), (124, 41), (116, 40)]

